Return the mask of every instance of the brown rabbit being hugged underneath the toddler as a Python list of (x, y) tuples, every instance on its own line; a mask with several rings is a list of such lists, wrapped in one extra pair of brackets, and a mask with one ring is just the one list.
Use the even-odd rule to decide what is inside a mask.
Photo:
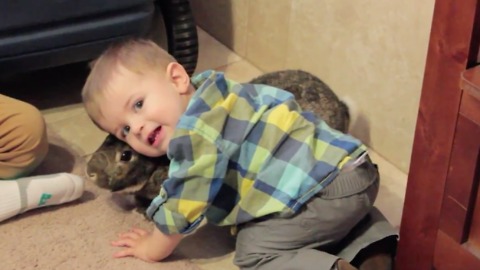
[[(304, 110), (312, 111), (329, 126), (348, 131), (348, 107), (322, 80), (301, 70), (283, 70), (261, 75), (251, 81), (292, 92)], [(136, 153), (130, 146), (108, 135), (87, 163), (87, 175), (99, 187), (112, 191), (140, 187), (130, 191), (135, 205), (143, 211), (155, 198), (167, 178), (168, 159), (149, 158)]]

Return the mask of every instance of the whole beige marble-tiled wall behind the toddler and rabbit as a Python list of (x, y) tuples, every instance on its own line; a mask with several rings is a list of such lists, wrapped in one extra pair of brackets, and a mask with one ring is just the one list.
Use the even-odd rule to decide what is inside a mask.
[[(192, 2), (207, 32), (262, 71), (321, 77), (351, 105), (352, 134), (408, 172), (434, 0)], [(226, 5), (237, 14), (230, 23)], [(225, 42), (228, 29), (246, 38)]]

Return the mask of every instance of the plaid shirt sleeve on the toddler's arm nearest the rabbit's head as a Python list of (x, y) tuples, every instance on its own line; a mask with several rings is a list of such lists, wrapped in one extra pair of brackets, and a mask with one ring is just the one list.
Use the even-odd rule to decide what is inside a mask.
[(147, 209), (165, 234), (194, 230), (220, 190), (228, 159), (208, 136), (177, 130), (170, 141), (169, 178)]

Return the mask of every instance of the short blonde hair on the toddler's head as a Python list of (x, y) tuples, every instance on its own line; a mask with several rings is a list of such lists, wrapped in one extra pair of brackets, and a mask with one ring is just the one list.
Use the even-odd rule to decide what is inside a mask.
[(88, 115), (93, 120), (101, 116), (103, 93), (113, 76), (121, 76), (120, 66), (136, 74), (145, 74), (165, 71), (171, 62), (176, 62), (175, 58), (150, 40), (131, 39), (112, 45), (90, 63), (91, 71), (82, 89)]

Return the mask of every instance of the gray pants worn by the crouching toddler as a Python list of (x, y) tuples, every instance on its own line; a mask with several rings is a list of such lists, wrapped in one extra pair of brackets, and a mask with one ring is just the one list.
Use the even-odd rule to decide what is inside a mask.
[(372, 210), (378, 189), (378, 170), (369, 159), (341, 172), (293, 217), (240, 226), (234, 263), (241, 269), (332, 269), (339, 258), (333, 254)]

